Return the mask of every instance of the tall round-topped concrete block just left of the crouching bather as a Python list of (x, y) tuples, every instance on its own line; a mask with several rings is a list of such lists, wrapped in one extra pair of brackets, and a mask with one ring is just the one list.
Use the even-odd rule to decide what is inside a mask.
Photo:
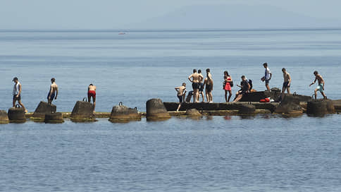
[(146, 103), (147, 109), (147, 121), (163, 121), (171, 119), (171, 115), (168, 114), (166, 107), (163, 105), (160, 99), (151, 99)]

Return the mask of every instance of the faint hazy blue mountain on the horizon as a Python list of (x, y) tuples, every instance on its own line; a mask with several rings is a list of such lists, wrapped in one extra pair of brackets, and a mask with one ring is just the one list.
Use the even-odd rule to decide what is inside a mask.
[(274, 6), (186, 6), (130, 28), (335, 28), (340, 20), (313, 18)]

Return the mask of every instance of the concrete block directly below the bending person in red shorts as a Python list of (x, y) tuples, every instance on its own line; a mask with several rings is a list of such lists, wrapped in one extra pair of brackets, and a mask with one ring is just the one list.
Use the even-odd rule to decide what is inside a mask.
[(94, 118), (94, 105), (90, 102), (77, 101), (70, 119), (75, 122), (96, 121)]

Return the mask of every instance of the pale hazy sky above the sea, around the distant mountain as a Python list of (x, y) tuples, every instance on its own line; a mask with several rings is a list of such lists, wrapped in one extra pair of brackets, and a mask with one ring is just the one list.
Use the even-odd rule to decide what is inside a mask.
[[(264, 7), (264, 10), (259, 10), (260, 12), (275, 7), (297, 17), (341, 20), (339, 0), (0, 0), (0, 29), (119, 30), (134, 28), (136, 23), (145, 22), (149, 22), (148, 28), (158, 28), (158, 23), (153, 23), (153, 19), (162, 19), (167, 15), (171, 17), (169, 14), (177, 13), (178, 10), (183, 11), (183, 8), (228, 7), (235, 4)], [(242, 13), (238, 16), (247, 18), (248, 13), (242, 12), (242, 6), (238, 8), (240, 10), (237, 11)], [(210, 11), (214, 13), (214, 10)], [(209, 17), (210, 14), (206, 14), (206, 17)], [(172, 20), (168, 19), (167, 22)], [(261, 22), (263, 21), (259, 20), (259, 23)], [(219, 23), (216, 24), (219, 26)]]

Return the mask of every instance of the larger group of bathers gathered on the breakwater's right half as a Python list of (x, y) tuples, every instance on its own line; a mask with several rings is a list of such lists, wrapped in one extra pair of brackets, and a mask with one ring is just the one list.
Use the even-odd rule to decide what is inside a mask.
[[(265, 68), (264, 76), (261, 78), (261, 81), (265, 82), (265, 87), (267, 91), (271, 91), (269, 82), (272, 78), (272, 73), (270, 69), (268, 68), (268, 64), (264, 63), (263, 68)], [(291, 85), (291, 76), (289, 73), (287, 73), (287, 70), (285, 68), (282, 68), (283, 72), (283, 86), (282, 86), (282, 95), (280, 97), (280, 100), (284, 98), (285, 91), (287, 91), (288, 94), (290, 94), (290, 85)], [(320, 74), (318, 74), (318, 71), (314, 71), (315, 80), (310, 85), (313, 85), (318, 81), (318, 87), (315, 89), (315, 99), (317, 95), (317, 91), (320, 91), (323, 95), (323, 98), (326, 99), (324, 90), (324, 80)], [(225, 90), (225, 102), (230, 102), (230, 99), (232, 97), (232, 88), (233, 88), (233, 78), (230, 76), (228, 71), (224, 71), (223, 76), (223, 90)], [(247, 80), (246, 76), (242, 76), (242, 81), (240, 82), (240, 85), (237, 85), (237, 87), (240, 88), (235, 94), (235, 99), (233, 102), (238, 102), (242, 99), (242, 96), (249, 93), (254, 92), (256, 90), (252, 89), (252, 80)], [(206, 93), (206, 102), (213, 102), (212, 99), (212, 91), (213, 91), (213, 79), (210, 72), (210, 69), (206, 69), (206, 78), (202, 75), (202, 71), (199, 69), (193, 69), (193, 73), (188, 77), (188, 80), (192, 83), (192, 91), (189, 92), (189, 95), (193, 95), (193, 102), (199, 102), (199, 97), (202, 97), (202, 102), (205, 102), (204, 100), (204, 88)], [(310, 86), (309, 85), (309, 86)], [(175, 90), (177, 91), (177, 95), (179, 98), (179, 106), (178, 110), (181, 107), (181, 103), (185, 101), (185, 95), (186, 95), (186, 83), (182, 83), (180, 87), (176, 87)], [(187, 102), (190, 102), (190, 100), (187, 100)]]

